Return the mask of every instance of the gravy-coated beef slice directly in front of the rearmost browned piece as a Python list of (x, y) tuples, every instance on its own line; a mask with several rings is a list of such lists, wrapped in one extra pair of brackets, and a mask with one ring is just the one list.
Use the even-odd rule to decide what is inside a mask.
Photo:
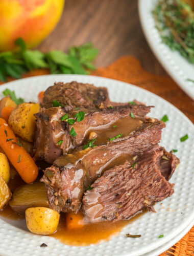
[[(141, 126), (139, 120), (145, 120), (146, 115), (150, 112), (151, 106), (144, 105), (125, 105), (117, 106), (113, 109), (90, 110), (79, 108), (68, 112), (71, 119), (75, 119), (75, 114), (79, 111), (85, 113), (85, 117), (81, 122), (75, 122), (70, 125), (65, 120), (61, 121), (61, 117), (65, 112), (61, 108), (43, 109), (35, 114), (37, 119), (37, 130), (35, 135), (34, 159), (42, 159), (48, 163), (53, 163), (57, 157), (65, 155), (74, 148), (81, 146), (85, 141), (88, 142), (90, 133), (95, 132), (95, 144), (100, 144), (103, 140), (107, 140), (107, 136), (114, 137), (118, 133), (130, 134), (137, 127)], [(131, 118), (130, 113), (136, 117)], [(120, 120), (120, 125), (119, 121)], [(116, 122), (115, 129), (112, 126)], [(124, 126), (125, 125), (125, 126)], [(120, 126), (120, 127), (119, 127)], [(70, 131), (74, 128), (77, 136), (72, 137)], [(110, 127), (110, 129), (109, 129)], [(108, 129), (110, 130), (108, 132)], [(104, 135), (102, 132), (104, 131)], [(119, 131), (119, 132), (118, 132)], [(58, 142), (62, 141), (59, 145)], [(53, 154), (54, 153), (54, 154)]]

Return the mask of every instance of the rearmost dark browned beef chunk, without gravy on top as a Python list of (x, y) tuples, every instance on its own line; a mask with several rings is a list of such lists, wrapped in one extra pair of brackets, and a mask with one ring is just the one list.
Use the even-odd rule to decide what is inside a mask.
[(107, 88), (94, 87), (88, 83), (78, 83), (76, 81), (63, 83), (57, 82), (44, 92), (41, 103), (43, 108), (52, 108), (53, 101), (57, 100), (61, 105), (68, 105), (69, 109), (79, 106), (85, 108), (100, 108), (110, 104)]

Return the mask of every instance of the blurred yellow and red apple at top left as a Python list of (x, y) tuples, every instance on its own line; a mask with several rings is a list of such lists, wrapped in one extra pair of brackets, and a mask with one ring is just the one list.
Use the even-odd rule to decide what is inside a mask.
[(22, 37), (38, 45), (57, 25), (65, 0), (0, 0), (0, 51), (15, 50)]

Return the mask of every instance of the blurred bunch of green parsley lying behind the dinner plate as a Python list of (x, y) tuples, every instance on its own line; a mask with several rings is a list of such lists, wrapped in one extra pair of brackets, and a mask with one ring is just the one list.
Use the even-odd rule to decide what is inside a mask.
[(52, 74), (88, 74), (94, 70), (92, 61), (98, 55), (98, 49), (91, 43), (79, 47), (71, 47), (68, 54), (62, 51), (42, 53), (29, 50), (25, 41), (15, 41), (18, 52), (0, 53), (0, 80), (7, 81), (7, 76), (21, 78), (23, 73), (37, 68), (48, 68)]

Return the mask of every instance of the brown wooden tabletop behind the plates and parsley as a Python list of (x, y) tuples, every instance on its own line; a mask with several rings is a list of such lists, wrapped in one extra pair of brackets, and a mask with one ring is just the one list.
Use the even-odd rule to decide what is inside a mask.
[[(168, 76), (143, 35), (137, 0), (66, 0), (56, 29), (37, 48), (66, 51), (72, 45), (89, 41), (100, 50), (95, 62), (97, 67), (106, 67), (119, 57), (131, 55), (145, 70)], [(189, 113), (187, 116), (194, 122), (194, 101), (179, 87), (164, 92), (164, 98), (165, 93), (166, 99), (184, 114)]]

